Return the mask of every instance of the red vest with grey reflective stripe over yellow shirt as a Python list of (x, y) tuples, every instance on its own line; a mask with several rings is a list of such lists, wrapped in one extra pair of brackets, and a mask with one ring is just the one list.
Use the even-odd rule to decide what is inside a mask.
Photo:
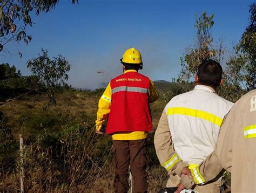
[(110, 86), (112, 104), (106, 133), (151, 131), (149, 78), (137, 72), (124, 73), (112, 79)]

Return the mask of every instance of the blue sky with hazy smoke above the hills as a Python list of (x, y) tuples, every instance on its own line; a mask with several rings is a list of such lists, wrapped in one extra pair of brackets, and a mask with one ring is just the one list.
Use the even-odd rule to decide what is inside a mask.
[[(18, 45), (23, 57), (14, 53), (0, 56), (0, 63), (16, 65), (29, 75), (26, 61), (38, 56), (41, 48), (51, 57), (62, 54), (71, 64), (68, 84), (96, 88), (122, 73), (120, 58), (129, 47), (142, 53), (141, 73), (152, 80), (177, 78), (180, 57), (196, 39), (194, 16), (214, 13), (212, 30), (215, 41), (224, 39), (228, 49), (236, 44), (248, 25), (247, 0), (80, 0), (79, 5), (60, 0), (48, 13), (33, 16), (31, 43)], [(105, 71), (103, 74), (97, 70)]]

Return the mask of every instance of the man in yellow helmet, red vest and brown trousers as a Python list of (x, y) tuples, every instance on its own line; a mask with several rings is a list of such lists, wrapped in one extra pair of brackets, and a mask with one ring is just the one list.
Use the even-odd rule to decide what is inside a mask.
[(134, 177), (134, 192), (147, 191), (147, 132), (152, 130), (150, 102), (158, 99), (153, 82), (143, 74), (142, 57), (133, 47), (121, 59), (124, 73), (110, 81), (99, 99), (96, 133), (112, 135), (114, 191), (129, 190), (129, 166)]

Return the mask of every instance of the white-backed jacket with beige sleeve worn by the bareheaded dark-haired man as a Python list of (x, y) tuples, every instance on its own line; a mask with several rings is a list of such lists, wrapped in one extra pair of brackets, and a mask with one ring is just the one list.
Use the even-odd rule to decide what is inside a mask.
[(161, 166), (180, 176), (188, 164), (192, 167), (202, 162), (214, 150), (221, 122), (232, 105), (205, 85), (174, 96), (165, 106), (154, 135)]

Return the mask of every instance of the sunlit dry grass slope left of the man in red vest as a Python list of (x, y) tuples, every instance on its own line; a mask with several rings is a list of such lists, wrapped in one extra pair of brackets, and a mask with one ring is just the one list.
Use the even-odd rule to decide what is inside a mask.
[[(68, 114), (79, 121), (83, 121), (83, 119), (86, 121), (88, 117), (96, 119), (98, 100), (99, 95), (93, 92), (67, 91), (58, 93), (56, 106), (51, 105), (47, 109), (47, 113), (52, 115)], [(8, 126), (12, 128), (16, 139), (21, 133), (23, 121), (29, 119), (31, 115), (42, 113), (46, 102), (46, 96), (36, 94), (25, 96), (23, 99), (12, 101), (0, 107), (0, 111), (8, 118)], [(83, 118), (83, 115), (86, 116)], [(24, 130), (26, 131), (26, 126), (24, 126)]]

